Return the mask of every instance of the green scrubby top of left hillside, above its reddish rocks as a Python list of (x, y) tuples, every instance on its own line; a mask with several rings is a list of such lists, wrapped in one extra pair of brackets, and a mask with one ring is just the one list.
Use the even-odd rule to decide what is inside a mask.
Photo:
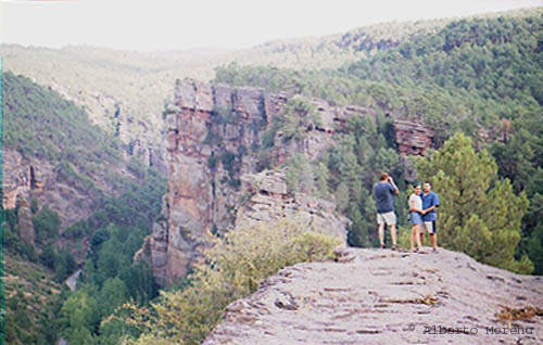
[(92, 126), (72, 102), (10, 72), (3, 74), (3, 87), (5, 149), (53, 164), (70, 163), (87, 177), (98, 163), (122, 165), (123, 143)]

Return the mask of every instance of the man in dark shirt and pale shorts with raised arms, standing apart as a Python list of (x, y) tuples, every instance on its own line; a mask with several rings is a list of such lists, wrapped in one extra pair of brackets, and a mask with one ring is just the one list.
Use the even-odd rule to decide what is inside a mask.
[(379, 182), (374, 186), (374, 197), (377, 206), (377, 226), (380, 247), (384, 248), (384, 223), (390, 228), (392, 250), (396, 248), (396, 215), (394, 214), (393, 196), (399, 193), (397, 187), (392, 178), (383, 173), (379, 176)]

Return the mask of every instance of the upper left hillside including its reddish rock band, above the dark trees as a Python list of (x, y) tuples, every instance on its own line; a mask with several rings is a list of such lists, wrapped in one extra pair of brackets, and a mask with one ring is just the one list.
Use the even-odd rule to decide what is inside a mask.
[[(143, 175), (144, 167), (118, 138), (56, 92), (9, 72), (3, 88), (3, 192), (13, 199), (8, 204), (14, 205), (13, 193), (27, 183), (39, 204), (72, 223)], [(25, 169), (31, 170), (30, 180)]]

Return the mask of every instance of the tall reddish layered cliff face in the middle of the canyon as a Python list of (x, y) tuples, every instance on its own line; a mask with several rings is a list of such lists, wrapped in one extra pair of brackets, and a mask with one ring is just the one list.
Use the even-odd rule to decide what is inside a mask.
[[(291, 209), (305, 209), (310, 218), (316, 214), (331, 215), (332, 203), (304, 194), (288, 196), (285, 177), (274, 178), (270, 173), (254, 175), (260, 170), (255, 153), (261, 137), (289, 100), (295, 98), (301, 97), (189, 79), (176, 84), (174, 102), (164, 113), (168, 190), (163, 218), (136, 255), (136, 259), (151, 263), (159, 283), (167, 285), (182, 277), (205, 237), (226, 231), (236, 219), (265, 221)], [(372, 110), (361, 106), (332, 106), (323, 100), (302, 99), (313, 105), (320, 120), (305, 128), (303, 138), (298, 140), (281, 140), (278, 132), (268, 157), (272, 167), (295, 154), (310, 162), (318, 159), (334, 144), (333, 135), (344, 130), (349, 117), (375, 116)], [(424, 151), (424, 143), (429, 141), (419, 141)], [(252, 188), (250, 180), (258, 179), (268, 186)], [(324, 221), (321, 218), (315, 221)], [(338, 234), (343, 232), (345, 219), (331, 219), (330, 216), (331, 222), (323, 225), (333, 223)]]

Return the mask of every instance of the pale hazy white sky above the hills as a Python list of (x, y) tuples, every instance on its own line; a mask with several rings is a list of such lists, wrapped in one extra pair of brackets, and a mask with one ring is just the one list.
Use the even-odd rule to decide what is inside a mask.
[(464, 16), (543, 0), (0, 0), (4, 43), (60, 48), (245, 48), (368, 24)]

